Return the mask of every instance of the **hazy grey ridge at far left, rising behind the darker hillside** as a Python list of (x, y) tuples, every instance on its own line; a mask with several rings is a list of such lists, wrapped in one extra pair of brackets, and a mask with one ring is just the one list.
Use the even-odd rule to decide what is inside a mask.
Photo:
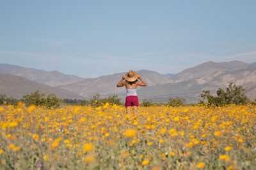
[(33, 68), (13, 66), (10, 64), (0, 64), (0, 73), (21, 76), (28, 80), (36, 81), (52, 87), (76, 83), (77, 81), (83, 80), (83, 78), (78, 76), (63, 74), (58, 71), (44, 71)]

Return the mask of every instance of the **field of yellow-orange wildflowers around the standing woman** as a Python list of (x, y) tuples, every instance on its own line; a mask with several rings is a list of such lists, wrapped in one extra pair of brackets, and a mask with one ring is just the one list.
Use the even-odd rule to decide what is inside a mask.
[(256, 169), (255, 125), (255, 106), (0, 106), (0, 169)]

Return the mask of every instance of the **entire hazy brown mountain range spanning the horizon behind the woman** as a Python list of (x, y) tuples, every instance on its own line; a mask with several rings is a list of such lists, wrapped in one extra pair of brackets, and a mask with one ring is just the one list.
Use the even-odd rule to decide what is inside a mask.
[[(202, 90), (215, 92), (234, 82), (246, 89), (246, 96), (256, 97), (256, 62), (252, 64), (231, 62), (204, 62), (185, 69), (178, 74), (159, 74), (155, 71), (136, 71), (148, 83), (148, 87), (138, 88), (140, 99), (166, 102), (170, 97), (182, 96), (188, 102), (199, 101)], [(116, 83), (125, 73), (115, 73), (97, 78), (81, 78), (58, 71), (44, 71), (33, 68), (0, 64), (0, 94), (20, 97), (40, 90), (54, 93), (61, 98), (91, 97), (100, 94), (105, 97), (118, 95), (125, 97), (125, 88), (117, 88)]]

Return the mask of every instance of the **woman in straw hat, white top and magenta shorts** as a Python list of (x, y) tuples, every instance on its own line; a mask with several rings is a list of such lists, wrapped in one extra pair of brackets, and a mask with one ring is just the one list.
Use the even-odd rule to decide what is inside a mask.
[[(138, 81), (140, 80), (140, 81)], [(131, 113), (131, 108), (134, 107), (134, 114), (138, 112), (139, 99), (137, 96), (137, 87), (145, 87), (147, 83), (142, 80), (141, 76), (134, 71), (130, 70), (126, 73), (122, 80), (117, 83), (117, 87), (126, 87), (127, 96), (125, 98), (125, 108), (126, 113), (129, 115)]]

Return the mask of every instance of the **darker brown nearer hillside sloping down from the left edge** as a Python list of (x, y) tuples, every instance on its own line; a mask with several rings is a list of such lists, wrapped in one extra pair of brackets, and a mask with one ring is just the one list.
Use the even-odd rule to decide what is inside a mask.
[(30, 94), (31, 92), (35, 92), (36, 90), (40, 90), (40, 92), (45, 92), (46, 94), (56, 94), (56, 96), (60, 98), (83, 98), (68, 90), (60, 89), (57, 87), (50, 87), (48, 85), (42, 85), (40, 83), (27, 80), (20, 76), (0, 73), (0, 94), (6, 94), (6, 96), (12, 96), (20, 99), (25, 94)]

